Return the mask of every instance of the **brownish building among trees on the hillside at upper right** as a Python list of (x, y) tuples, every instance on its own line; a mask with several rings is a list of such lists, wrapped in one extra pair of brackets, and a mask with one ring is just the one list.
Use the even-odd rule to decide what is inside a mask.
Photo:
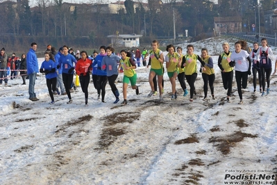
[(242, 17), (214, 17), (217, 33), (237, 33), (242, 31)]

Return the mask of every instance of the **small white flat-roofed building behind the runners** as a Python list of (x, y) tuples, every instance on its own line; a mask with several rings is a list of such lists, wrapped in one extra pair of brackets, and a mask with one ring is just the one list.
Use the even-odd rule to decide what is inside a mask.
[(140, 47), (140, 38), (142, 35), (124, 34), (124, 35), (108, 35), (114, 46), (121, 47)]

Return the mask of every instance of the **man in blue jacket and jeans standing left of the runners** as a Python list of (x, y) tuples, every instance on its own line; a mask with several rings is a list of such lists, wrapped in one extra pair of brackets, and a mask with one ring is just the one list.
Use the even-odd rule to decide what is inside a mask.
[(32, 42), (31, 48), (28, 51), (26, 56), (27, 61), (27, 74), (29, 77), (29, 99), (33, 102), (40, 100), (37, 99), (37, 95), (35, 95), (35, 79), (37, 77), (38, 72), (38, 62), (37, 62), (37, 55), (35, 54), (35, 50), (37, 50), (37, 43)]

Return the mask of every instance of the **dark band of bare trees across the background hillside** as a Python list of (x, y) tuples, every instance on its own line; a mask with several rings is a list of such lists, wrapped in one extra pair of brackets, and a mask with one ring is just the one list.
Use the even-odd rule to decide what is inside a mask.
[[(105, 1), (92, 0), (92, 4), (64, 3), (62, 0), (37, 0), (31, 8), (28, 0), (0, 3), (1, 45), (20, 49), (35, 41), (39, 45), (72, 45), (98, 48), (108, 45), (107, 35), (142, 34), (148, 42), (157, 37), (173, 37), (174, 18), (176, 33), (203, 38), (214, 29), (214, 17), (241, 16), (243, 24), (253, 24), (257, 0), (219, 0), (215, 5), (205, 0), (149, 0), (148, 4), (124, 1), (117, 14), (105, 13)], [(261, 1), (263, 12), (275, 8), (274, 0)], [(136, 3), (136, 8), (134, 8)], [(92, 13), (92, 5), (96, 13)], [(124, 10), (124, 7), (126, 11)], [(258, 10), (258, 9), (256, 9)], [(145, 21), (145, 22), (144, 22)], [(145, 24), (144, 24), (145, 23)], [(146, 31), (146, 33), (144, 33)], [(0, 46), (1, 47), (1, 46)]]

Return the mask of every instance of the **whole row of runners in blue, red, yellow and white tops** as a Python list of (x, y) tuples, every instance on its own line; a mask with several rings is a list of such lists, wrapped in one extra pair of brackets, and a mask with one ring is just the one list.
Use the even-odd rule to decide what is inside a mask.
[[(230, 95), (232, 93), (233, 83), (233, 70), (235, 69), (235, 80), (237, 82), (237, 92), (240, 97), (239, 104), (243, 104), (242, 88), (247, 87), (248, 76), (251, 74), (251, 67), (253, 72), (253, 87), (254, 93), (256, 90), (256, 73), (258, 72), (258, 79), (260, 84), (260, 93), (262, 96), (268, 95), (270, 88), (270, 74), (272, 70), (271, 61), (274, 61), (274, 54), (271, 49), (267, 47), (267, 40), (262, 38), (262, 47), (258, 47), (258, 43), (253, 44), (253, 50), (251, 54), (246, 51), (246, 42), (239, 40), (235, 42), (235, 51), (229, 51), (228, 42), (222, 44), (224, 50), (218, 58), (218, 66), (221, 70), (221, 78), (224, 88), (227, 90), (226, 101), (230, 102)], [(208, 55), (208, 49), (201, 49), (201, 56), (194, 54), (194, 46), (187, 45), (187, 53), (183, 54), (181, 47), (174, 47), (174, 45), (167, 45), (167, 55), (164, 56), (163, 52), (158, 48), (159, 42), (153, 40), (151, 43), (152, 49), (150, 49), (144, 57), (149, 58), (149, 64), (151, 69), (149, 72), (149, 84), (151, 92), (148, 97), (156, 95), (156, 76), (158, 76), (158, 88), (160, 101), (163, 99), (163, 74), (165, 72), (164, 62), (166, 63), (167, 75), (171, 82), (171, 100), (177, 99), (176, 92), (176, 78), (181, 84), (183, 89), (183, 96), (188, 95), (188, 90), (185, 85), (185, 79), (190, 86), (190, 102), (193, 102), (193, 96), (196, 95), (194, 83), (198, 74), (197, 61), (200, 62), (200, 72), (203, 79), (203, 91), (204, 101), (208, 100), (208, 86), (210, 87), (212, 99), (215, 99), (214, 82), (215, 82), (215, 70), (212, 61), (212, 57)], [(62, 47), (63, 54), (58, 61), (54, 61), (53, 56), (49, 53), (45, 53), (45, 61), (42, 63), (40, 72), (44, 72), (47, 78), (47, 87), (49, 89), (49, 95), (51, 97), (51, 103), (54, 103), (52, 91), (56, 90), (56, 69), (62, 68), (62, 81), (65, 85), (65, 90), (69, 98), (68, 104), (72, 103), (72, 97), (70, 95), (70, 88), (72, 88), (72, 81), (74, 78), (74, 70), (80, 77), (81, 88), (85, 93), (85, 105), (88, 102), (88, 85), (90, 83), (90, 73), (92, 67), (94, 67), (93, 74), (96, 75), (96, 83), (94, 83), (97, 89), (98, 99), (101, 102), (105, 102), (106, 95), (106, 83), (109, 82), (112, 93), (115, 95), (115, 102), (119, 102), (119, 90), (115, 85), (115, 81), (118, 77), (121, 67), (124, 71), (123, 78), (123, 97), (122, 104), (127, 104), (127, 87), (131, 81), (131, 87), (135, 90), (136, 95), (139, 94), (139, 88), (136, 85), (137, 74), (135, 72), (135, 62), (131, 56), (128, 56), (128, 51), (121, 50), (121, 57), (114, 54), (115, 49), (112, 47), (100, 47), (99, 54), (94, 58), (87, 56), (86, 51), (81, 51), (81, 58), (76, 61), (72, 55), (68, 55), (68, 47)], [(176, 51), (177, 50), (177, 51)], [(75, 63), (75, 64), (74, 64)], [(276, 73), (276, 70), (274, 71)], [(93, 76), (93, 75), (92, 75)], [(267, 81), (267, 91), (265, 91), (265, 81)], [(101, 97), (100, 97), (101, 96)]]

